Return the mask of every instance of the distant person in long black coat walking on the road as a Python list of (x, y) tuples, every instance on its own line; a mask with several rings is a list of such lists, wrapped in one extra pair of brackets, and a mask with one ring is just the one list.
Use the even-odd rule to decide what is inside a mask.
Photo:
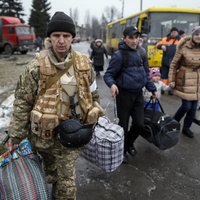
[(100, 75), (100, 71), (103, 71), (104, 54), (106, 58), (108, 58), (108, 53), (106, 48), (103, 46), (103, 41), (96, 39), (95, 44), (92, 47), (90, 59), (93, 61), (94, 70), (97, 76)]

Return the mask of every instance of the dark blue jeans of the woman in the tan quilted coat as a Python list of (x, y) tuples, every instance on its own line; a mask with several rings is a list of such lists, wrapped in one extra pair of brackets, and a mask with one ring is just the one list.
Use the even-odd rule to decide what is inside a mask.
[(186, 115), (183, 125), (183, 127), (186, 129), (190, 128), (192, 125), (192, 121), (197, 109), (197, 103), (198, 101), (187, 101), (182, 99), (182, 104), (174, 115), (174, 119), (178, 122), (184, 117), (184, 115)]

